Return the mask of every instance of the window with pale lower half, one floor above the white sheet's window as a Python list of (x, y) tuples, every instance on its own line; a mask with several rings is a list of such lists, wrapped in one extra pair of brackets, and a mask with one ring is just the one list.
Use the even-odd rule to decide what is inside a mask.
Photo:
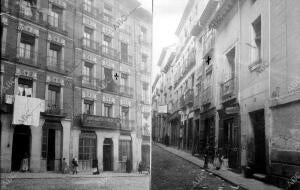
[(31, 59), (33, 57), (34, 41), (34, 36), (25, 33), (21, 34), (19, 57), (25, 59)]

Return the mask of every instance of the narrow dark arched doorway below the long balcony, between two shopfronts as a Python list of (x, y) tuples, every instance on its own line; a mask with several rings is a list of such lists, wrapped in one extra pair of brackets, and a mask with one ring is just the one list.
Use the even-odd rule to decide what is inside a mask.
[(103, 142), (103, 171), (113, 171), (113, 141), (105, 138)]

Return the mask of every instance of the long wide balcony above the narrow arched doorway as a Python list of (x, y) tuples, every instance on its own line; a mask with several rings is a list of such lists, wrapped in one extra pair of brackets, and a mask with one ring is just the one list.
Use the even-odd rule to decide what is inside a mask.
[(104, 117), (98, 115), (81, 115), (81, 124), (84, 127), (102, 128), (102, 129), (120, 129), (120, 118)]

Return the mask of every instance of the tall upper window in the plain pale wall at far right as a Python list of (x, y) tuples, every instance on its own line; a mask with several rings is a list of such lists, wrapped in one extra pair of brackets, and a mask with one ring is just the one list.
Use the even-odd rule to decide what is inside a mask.
[(258, 61), (261, 59), (261, 17), (259, 16), (253, 23), (253, 41), (254, 47), (252, 49), (252, 56), (254, 61)]

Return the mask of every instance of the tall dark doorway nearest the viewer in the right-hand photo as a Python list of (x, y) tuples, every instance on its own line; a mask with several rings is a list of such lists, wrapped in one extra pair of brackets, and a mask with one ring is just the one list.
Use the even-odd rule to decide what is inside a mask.
[(266, 172), (266, 137), (265, 113), (258, 110), (250, 113), (254, 133), (254, 170), (258, 173)]

